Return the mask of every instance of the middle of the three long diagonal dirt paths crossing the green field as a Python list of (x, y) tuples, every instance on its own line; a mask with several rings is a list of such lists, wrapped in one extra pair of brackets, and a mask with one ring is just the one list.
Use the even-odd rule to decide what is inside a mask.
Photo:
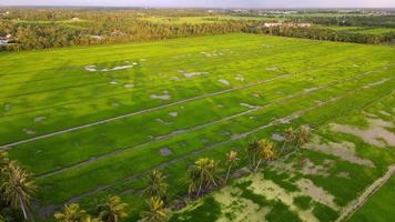
[(205, 123), (205, 124), (200, 124), (200, 125), (192, 127), (192, 128), (189, 128), (189, 129), (180, 129), (180, 130), (173, 131), (173, 132), (171, 132), (169, 134), (165, 134), (165, 135), (159, 135), (159, 137), (153, 138), (152, 140), (150, 140), (148, 142), (143, 142), (141, 144), (138, 144), (138, 145), (134, 145), (134, 147), (131, 147), (131, 148), (118, 149), (118, 150), (109, 152), (109, 153), (104, 153), (104, 154), (101, 154), (101, 155), (95, 155), (95, 157), (90, 158), (89, 160), (83, 160), (81, 162), (75, 162), (73, 164), (65, 165), (65, 167), (63, 167), (61, 169), (55, 169), (53, 171), (44, 172), (44, 173), (38, 174), (36, 176), (37, 178), (48, 178), (48, 176), (61, 173), (63, 171), (75, 169), (75, 168), (79, 168), (81, 165), (85, 165), (85, 164), (89, 164), (89, 163), (92, 163), (92, 162), (95, 162), (95, 161), (99, 161), (99, 160), (102, 160), (102, 159), (105, 159), (105, 158), (110, 158), (110, 157), (113, 157), (113, 155), (130, 151), (130, 150), (140, 149), (140, 148), (142, 148), (144, 145), (149, 145), (149, 144), (151, 144), (153, 142), (166, 140), (166, 139), (173, 138), (175, 135), (190, 133), (190, 132), (193, 132), (193, 131), (196, 131), (196, 130), (200, 130), (200, 129), (204, 129), (204, 128), (207, 128), (207, 127), (221, 123), (221, 122), (225, 122), (225, 121), (239, 118), (239, 117), (243, 117), (243, 115), (250, 114), (252, 112), (262, 110), (264, 108), (269, 108), (269, 107), (272, 107), (272, 105), (281, 104), (281, 103), (287, 102), (288, 100), (296, 99), (296, 98), (300, 98), (300, 97), (303, 97), (303, 95), (306, 95), (306, 94), (311, 94), (311, 93), (314, 93), (314, 92), (316, 92), (318, 90), (322, 90), (322, 89), (327, 89), (330, 87), (336, 85), (336, 84), (338, 84), (341, 82), (344, 82), (344, 81), (353, 81), (353, 80), (356, 80), (356, 79), (358, 79), (358, 78), (361, 78), (363, 75), (369, 74), (369, 73), (371, 72), (365, 72), (365, 73), (362, 73), (359, 75), (354, 75), (354, 77), (350, 77), (350, 78), (335, 80), (335, 81), (332, 81), (332, 82), (330, 82), (327, 84), (323, 84), (323, 85), (316, 87), (314, 90), (303, 91), (302, 93), (291, 94), (288, 97), (285, 97), (285, 98), (283, 98), (281, 100), (274, 101), (274, 102), (269, 103), (269, 104), (263, 105), (263, 107), (254, 107), (251, 110), (247, 110), (245, 112), (241, 112), (241, 113), (237, 113), (237, 114), (234, 114), (234, 115), (230, 115), (230, 117), (226, 117), (226, 118), (213, 121), (213, 122), (209, 122), (209, 123)]

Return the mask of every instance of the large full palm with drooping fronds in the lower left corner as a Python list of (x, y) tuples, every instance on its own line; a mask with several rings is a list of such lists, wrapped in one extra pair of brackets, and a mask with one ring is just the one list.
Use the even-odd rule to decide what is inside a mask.
[(24, 219), (28, 219), (31, 198), (36, 194), (37, 186), (30, 180), (30, 174), (21, 169), (17, 162), (11, 161), (6, 170), (6, 180), (1, 190), (11, 208), (20, 209)]

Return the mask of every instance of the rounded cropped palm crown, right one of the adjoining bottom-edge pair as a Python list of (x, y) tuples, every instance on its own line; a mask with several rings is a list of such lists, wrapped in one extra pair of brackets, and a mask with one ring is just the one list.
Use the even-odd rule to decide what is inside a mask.
[(125, 213), (126, 203), (123, 203), (118, 195), (108, 195), (97, 205), (99, 219), (102, 222), (118, 222), (126, 218)]

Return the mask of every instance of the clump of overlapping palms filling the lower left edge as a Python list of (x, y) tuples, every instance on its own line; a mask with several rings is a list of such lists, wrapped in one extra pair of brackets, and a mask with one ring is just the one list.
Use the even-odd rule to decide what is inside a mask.
[(0, 219), (19, 221), (18, 214), (21, 212), (23, 219), (29, 220), (31, 199), (36, 192), (37, 186), (30, 173), (17, 161), (11, 161), (6, 151), (0, 150)]

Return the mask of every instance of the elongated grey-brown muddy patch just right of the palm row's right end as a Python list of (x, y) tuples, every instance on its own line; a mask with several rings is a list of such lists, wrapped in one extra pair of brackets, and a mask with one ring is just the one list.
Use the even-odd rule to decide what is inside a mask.
[(355, 154), (355, 144), (348, 141), (341, 143), (328, 142), (321, 143), (318, 137), (314, 137), (312, 142), (304, 145), (304, 149), (318, 151), (325, 154), (335, 155), (351, 163), (374, 168), (374, 163), (371, 160), (362, 159)]

